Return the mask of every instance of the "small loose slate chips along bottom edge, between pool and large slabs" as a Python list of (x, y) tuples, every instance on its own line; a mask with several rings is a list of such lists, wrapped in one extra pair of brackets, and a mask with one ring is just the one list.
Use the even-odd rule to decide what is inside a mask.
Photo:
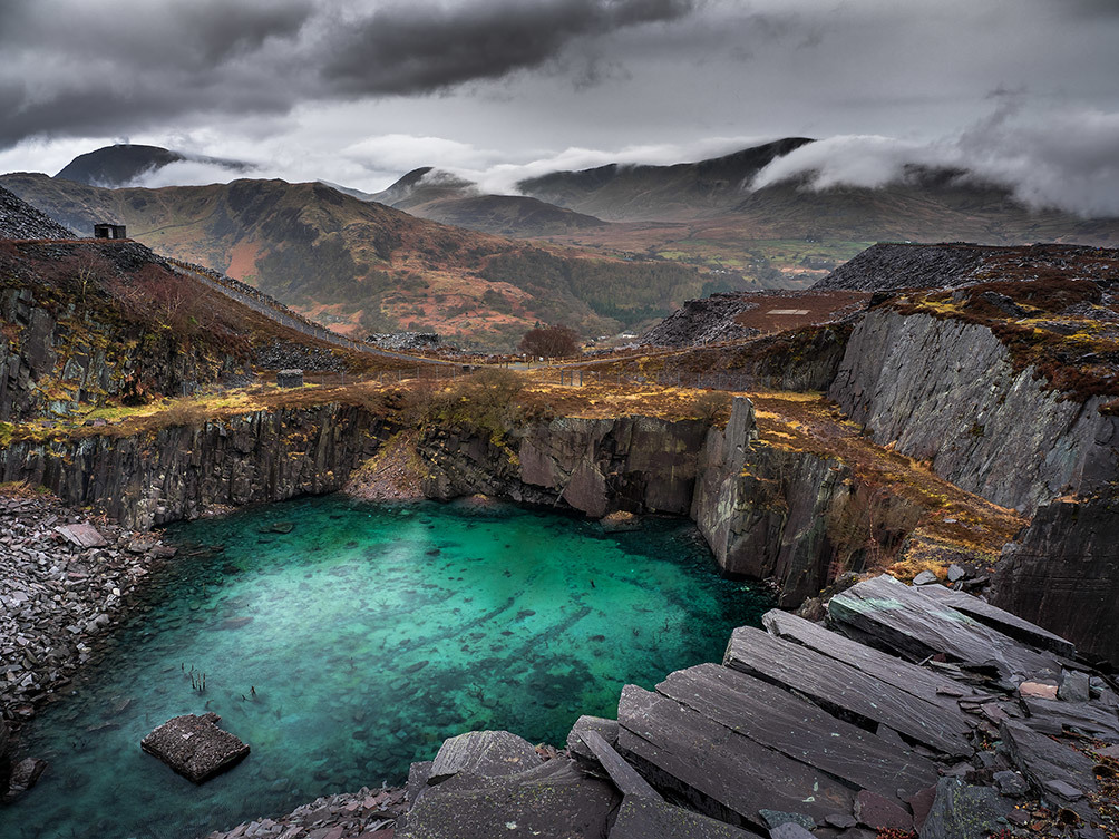
[(278, 819), (238, 824), (206, 839), (392, 839), (396, 819), (406, 809), (404, 790), (369, 790), (327, 795)]

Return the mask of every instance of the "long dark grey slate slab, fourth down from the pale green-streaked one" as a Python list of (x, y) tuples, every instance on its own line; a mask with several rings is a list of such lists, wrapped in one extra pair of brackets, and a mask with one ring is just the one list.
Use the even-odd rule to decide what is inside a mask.
[[(697, 664), (670, 673), (657, 692), (735, 733), (847, 781), (893, 796), (937, 782), (937, 767), (820, 707), (745, 673)], [(900, 738), (899, 738), (900, 739)]]

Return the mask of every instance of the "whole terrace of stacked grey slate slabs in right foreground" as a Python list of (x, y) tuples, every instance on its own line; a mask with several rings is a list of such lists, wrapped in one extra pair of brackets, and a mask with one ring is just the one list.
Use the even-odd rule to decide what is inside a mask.
[(833, 597), (827, 625), (763, 622), (735, 630), (721, 666), (627, 686), (617, 722), (581, 718), (571, 758), (507, 733), (448, 741), (439, 772), (413, 765), (396, 836), (1115, 833), (1119, 696), (1064, 639), (888, 576)]

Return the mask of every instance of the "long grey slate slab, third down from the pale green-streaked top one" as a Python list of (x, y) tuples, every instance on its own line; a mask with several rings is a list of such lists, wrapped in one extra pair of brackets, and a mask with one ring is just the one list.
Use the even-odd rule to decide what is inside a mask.
[(887, 725), (938, 752), (953, 756), (968, 756), (972, 752), (965, 739), (970, 726), (958, 708), (918, 699), (862, 670), (761, 630), (736, 629), (723, 663), (796, 690), (845, 716)]

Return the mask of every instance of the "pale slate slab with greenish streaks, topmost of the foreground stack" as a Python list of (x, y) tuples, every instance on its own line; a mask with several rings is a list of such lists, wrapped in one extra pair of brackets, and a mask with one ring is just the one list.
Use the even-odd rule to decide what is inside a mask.
[(1061, 672), (1052, 654), (1033, 650), (885, 574), (833, 597), (828, 618), (857, 640), (913, 661), (942, 653), (969, 667), (995, 668), (1004, 678)]

